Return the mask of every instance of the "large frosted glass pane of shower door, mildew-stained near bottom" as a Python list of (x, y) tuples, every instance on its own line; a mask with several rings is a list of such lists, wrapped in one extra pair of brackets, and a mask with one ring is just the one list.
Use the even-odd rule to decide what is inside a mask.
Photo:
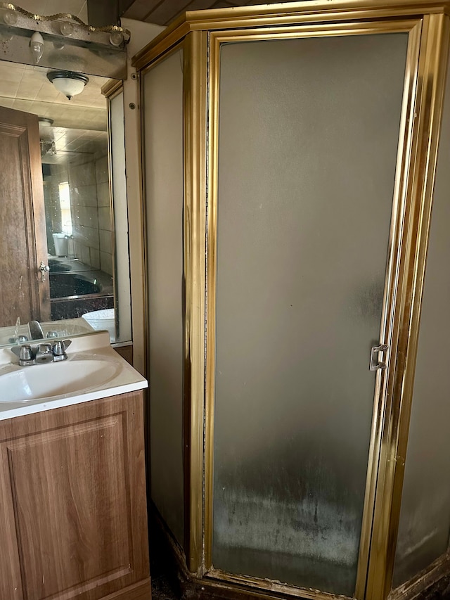
[(216, 569), (354, 594), (407, 44), (221, 46)]

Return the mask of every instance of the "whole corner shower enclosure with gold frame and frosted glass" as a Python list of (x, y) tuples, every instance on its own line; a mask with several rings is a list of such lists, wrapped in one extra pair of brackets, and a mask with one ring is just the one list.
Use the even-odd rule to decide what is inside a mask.
[(203, 586), (449, 568), (449, 4), (196, 11), (134, 57), (151, 496)]

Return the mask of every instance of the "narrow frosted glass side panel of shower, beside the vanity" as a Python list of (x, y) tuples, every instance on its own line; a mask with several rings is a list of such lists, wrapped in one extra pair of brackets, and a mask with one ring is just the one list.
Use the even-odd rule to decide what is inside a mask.
[[(184, 541), (183, 51), (143, 75), (151, 499)], [(162, 459), (163, 457), (163, 459)]]

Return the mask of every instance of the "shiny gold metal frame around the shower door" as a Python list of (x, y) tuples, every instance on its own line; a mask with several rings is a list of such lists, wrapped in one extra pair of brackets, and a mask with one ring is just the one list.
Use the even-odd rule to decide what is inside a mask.
[[(391, 365), (378, 371), (355, 597), (391, 591), (428, 248), (450, 2), (329, 1), (188, 12), (133, 60), (146, 71), (184, 45), (185, 537), (188, 570), (259, 597), (330, 599), (212, 568), (214, 324), (219, 51), (226, 42), (409, 32), (380, 340)], [(209, 53), (209, 56), (208, 56)], [(208, 70), (209, 69), (209, 70)], [(208, 121), (207, 121), (207, 115)]]

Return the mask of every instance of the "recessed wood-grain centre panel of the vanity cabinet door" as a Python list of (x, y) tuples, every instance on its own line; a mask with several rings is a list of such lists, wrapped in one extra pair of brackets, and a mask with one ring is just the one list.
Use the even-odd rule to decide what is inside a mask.
[(118, 414), (7, 445), (25, 598), (131, 570), (123, 429)]

